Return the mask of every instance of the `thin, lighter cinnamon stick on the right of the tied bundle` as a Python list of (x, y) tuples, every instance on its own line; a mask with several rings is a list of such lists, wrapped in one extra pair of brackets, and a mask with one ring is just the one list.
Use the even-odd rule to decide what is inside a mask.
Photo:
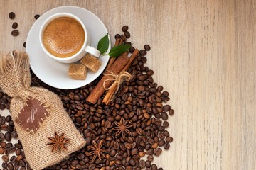
[[(127, 71), (129, 69), (129, 67), (132, 64), (132, 61), (137, 57), (138, 54), (139, 54), (139, 50), (135, 49), (134, 52), (132, 52), (132, 55), (129, 57), (129, 62), (124, 66), (122, 71)], [(103, 98), (102, 103), (105, 103), (106, 105), (110, 104), (111, 98), (114, 95), (114, 92), (116, 90), (117, 90), (117, 85), (112, 86), (111, 89), (107, 91), (107, 94)]]

